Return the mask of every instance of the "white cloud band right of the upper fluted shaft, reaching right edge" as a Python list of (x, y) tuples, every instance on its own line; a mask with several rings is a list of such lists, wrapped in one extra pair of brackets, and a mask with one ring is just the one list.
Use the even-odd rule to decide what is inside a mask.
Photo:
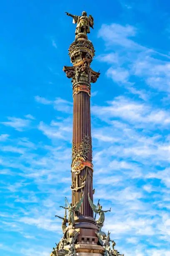
[(131, 123), (170, 124), (170, 113), (168, 111), (154, 109), (146, 103), (137, 102), (122, 96), (108, 102), (108, 106), (93, 106), (92, 113), (100, 116), (103, 120), (110, 120), (110, 123), (114, 117), (120, 117)]

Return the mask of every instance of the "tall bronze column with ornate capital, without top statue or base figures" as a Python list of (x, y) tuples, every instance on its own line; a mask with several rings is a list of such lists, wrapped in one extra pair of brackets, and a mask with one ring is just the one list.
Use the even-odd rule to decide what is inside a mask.
[(69, 47), (72, 67), (63, 70), (72, 78), (73, 89), (73, 139), (72, 139), (72, 204), (84, 194), (79, 212), (75, 215), (93, 217), (87, 194), (92, 199), (92, 139), (90, 120), (90, 83), (97, 81), (100, 73), (91, 69), (94, 56), (92, 42), (84, 33), (79, 33)]

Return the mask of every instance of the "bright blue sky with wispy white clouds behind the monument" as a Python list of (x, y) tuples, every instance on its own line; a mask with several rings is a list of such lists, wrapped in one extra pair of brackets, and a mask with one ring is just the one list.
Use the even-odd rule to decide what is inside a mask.
[(70, 199), (75, 25), (94, 17), (95, 202), (120, 253), (170, 255), (170, 4), (4, 1), (0, 8), (0, 255), (49, 256)]

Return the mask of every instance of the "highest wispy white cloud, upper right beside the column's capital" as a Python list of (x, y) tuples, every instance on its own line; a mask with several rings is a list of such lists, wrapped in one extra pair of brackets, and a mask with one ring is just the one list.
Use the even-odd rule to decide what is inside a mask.
[[(107, 51), (110, 52), (101, 54), (97, 59), (112, 64), (106, 74), (114, 82), (125, 83), (125, 85), (127, 82), (135, 84), (135, 76), (143, 79), (145, 84), (151, 88), (170, 92), (170, 56), (149, 49), (132, 40), (131, 38), (135, 37), (137, 32), (139, 33), (137, 28), (130, 25), (103, 24), (98, 36), (105, 41)], [(111, 51), (112, 45), (114, 45), (115, 52)], [(133, 92), (135, 92), (135, 86), (137, 85), (133, 86)]]

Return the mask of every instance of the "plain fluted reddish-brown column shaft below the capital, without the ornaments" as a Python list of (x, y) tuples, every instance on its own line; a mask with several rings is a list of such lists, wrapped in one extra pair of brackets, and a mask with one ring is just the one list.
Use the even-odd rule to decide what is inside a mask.
[[(83, 138), (88, 136), (90, 138), (89, 150), (86, 154), (87, 161), (92, 161), (92, 145), (91, 145), (91, 122), (90, 122), (90, 96), (87, 92), (79, 92), (73, 96), (73, 144), (75, 150), (80, 150), (80, 145)], [(78, 191), (72, 191), (72, 203), (75, 205), (76, 202), (82, 197), (82, 191), (84, 193), (84, 199), (77, 215), (84, 215), (93, 217), (93, 211), (88, 202), (87, 194), (89, 192), (92, 199), (92, 175), (93, 171), (90, 167), (85, 167), (81, 170), (78, 177), (79, 186), (85, 181), (85, 187)], [(72, 172), (72, 185), (75, 186), (75, 173)]]

